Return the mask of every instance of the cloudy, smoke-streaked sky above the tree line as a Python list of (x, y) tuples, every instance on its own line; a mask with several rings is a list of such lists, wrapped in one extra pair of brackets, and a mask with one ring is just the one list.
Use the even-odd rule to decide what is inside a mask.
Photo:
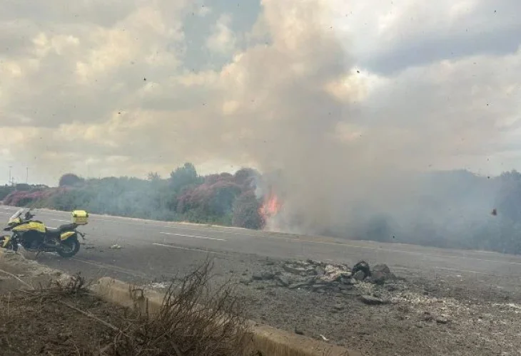
[(188, 161), (285, 169), (303, 192), (521, 169), (518, 0), (1, 8), (0, 182), (10, 166), (55, 185), (66, 172), (166, 177)]

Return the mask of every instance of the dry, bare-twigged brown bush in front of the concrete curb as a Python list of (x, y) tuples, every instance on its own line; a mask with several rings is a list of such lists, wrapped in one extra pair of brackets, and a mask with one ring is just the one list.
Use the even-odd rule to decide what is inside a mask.
[(111, 355), (243, 355), (247, 323), (227, 283), (212, 290), (205, 261), (181, 283), (171, 283), (153, 318), (141, 315), (131, 334), (113, 344)]

